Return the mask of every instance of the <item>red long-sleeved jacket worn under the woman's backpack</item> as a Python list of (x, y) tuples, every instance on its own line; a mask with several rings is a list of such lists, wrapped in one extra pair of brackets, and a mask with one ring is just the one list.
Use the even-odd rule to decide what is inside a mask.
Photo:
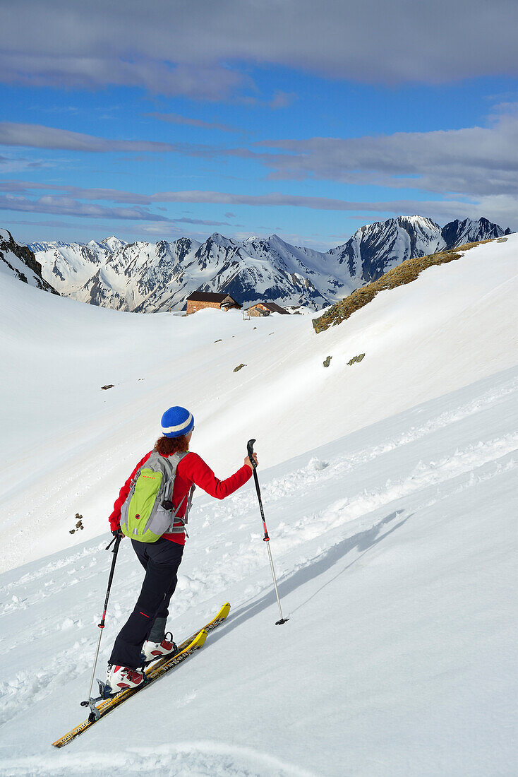
[[(119, 498), (113, 505), (113, 513), (110, 515), (109, 519), (110, 528), (112, 531), (115, 531), (120, 527), (120, 508), (123, 506), (128, 493), (130, 493), (131, 480), (134, 478), (137, 469), (139, 469), (144, 464), (144, 462), (148, 461), (148, 458), (151, 456), (151, 452), (152, 451), (149, 451), (149, 453), (147, 453), (144, 458), (138, 462), (134, 471), (131, 472), (131, 475), (127, 479), (126, 483), (124, 483), (123, 487), (120, 489)], [(241, 488), (241, 486), (244, 486), (247, 480), (249, 480), (251, 477), (252, 469), (249, 467), (249, 465), (244, 464), (242, 465), (241, 469), (238, 469), (234, 475), (231, 475), (226, 480), (218, 480), (210, 467), (205, 464), (203, 458), (197, 455), (197, 453), (189, 452), (186, 456), (183, 457), (183, 459), (181, 459), (179, 465), (176, 468), (175, 487), (172, 490), (172, 503), (176, 507), (176, 505), (178, 505), (183, 500), (186, 494), (189, 493), (190, 487), (193, 485), (193, 483), (195, 486), (200, 486), (203, 491), (207, 491), (211, 497), (224, 499), (225, 497), (229, 497), (231, 493), (237, 491), (238, 488)], [(179, 517), (183, 518), (186, 513), (186, 507), (187, 500), (184, 501), (183, 505), (179, 509)], [(175, 526), (181, 525), (182, 524), (180, 522), (175, 524)], [(185, 533), (174, 535), (165, 534), (162, 535), (162, 537), (171, 540), (171, 542), (178, 542), (179, 545), (186, 544)]]

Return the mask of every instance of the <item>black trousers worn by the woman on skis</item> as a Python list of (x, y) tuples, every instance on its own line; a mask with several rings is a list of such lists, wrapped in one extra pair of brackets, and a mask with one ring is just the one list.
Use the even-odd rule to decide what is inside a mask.
[(176, 588), (183, 545), (163, 537), (157, 542), (131, 540), (131, 544), (146, 570), (146, 576), (134, 611), (115, 640), (110, 664), (136, 669), (142, 665), (141, 648), (148, 639), (155, 618), (167, 618), (169, 615), (169, 601)]

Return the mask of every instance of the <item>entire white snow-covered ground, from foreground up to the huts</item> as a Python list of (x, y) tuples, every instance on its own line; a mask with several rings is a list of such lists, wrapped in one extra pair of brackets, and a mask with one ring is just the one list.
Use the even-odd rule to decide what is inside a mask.
[[(517, 238), (319, 335), (304, 315), (132, 315), (2, 285), (0, 773), (515, 772)], [(253, 484), (223, 502), (196, 492), (172, 630), (224, 601), (231, 618), (53, 751), (83, 719), (106, 516), (173, 402), (219, 476), (257, 438), (290, 622), (273, 625)], [(76, 512), (85, 531), (70, 535)], [(125, 541), (99, 676), (141, 577)]]

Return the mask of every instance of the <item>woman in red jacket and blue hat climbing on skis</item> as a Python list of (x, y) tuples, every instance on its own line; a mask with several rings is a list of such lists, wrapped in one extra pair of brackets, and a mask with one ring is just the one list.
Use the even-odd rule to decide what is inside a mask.
[[(176, 406), (165, 411), (162, 437), (153, 451), (138, 462), (110, 515), (113, 535), (131, 538), (138, 560), (146, 570), (137, 604), (116, 637), (108, 663), (106, 685), (112, 693), (141, 685), (144, 664), (176, 650), (171, 632), (165, 633), (165, 622), (186, 544), (185, 524), (194, 486), (200, 486), (211, 497), (224, 499), (252, 476), (252, 462), (247, 456), (234, 475), (218, 480), (203, 459), (189, 451), (193, 431), (194, 418), (189, 410)], [(253, 458), (257, 463), (256, 454)], [(145, 491), (156, 488), (155, 483), (160, 484), (156, 500), (146, 496), (152, 491)], [(140, 501), (139, 493), (144, 493)], [(164, 525), (166, 531), (162, 533)]]

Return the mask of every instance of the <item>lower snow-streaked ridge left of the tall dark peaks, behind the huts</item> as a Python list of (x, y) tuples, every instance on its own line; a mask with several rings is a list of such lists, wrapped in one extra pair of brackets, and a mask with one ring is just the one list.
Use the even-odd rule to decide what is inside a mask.
[(133, 312), (181, 310), (192, 291), (226, 291), (314, 310), (351, 289), (331, 257), (290, 246), (277, 235), (242, 242), (214, 233), (200, 243), (35, 243), (43, 274), (68, 297)]

